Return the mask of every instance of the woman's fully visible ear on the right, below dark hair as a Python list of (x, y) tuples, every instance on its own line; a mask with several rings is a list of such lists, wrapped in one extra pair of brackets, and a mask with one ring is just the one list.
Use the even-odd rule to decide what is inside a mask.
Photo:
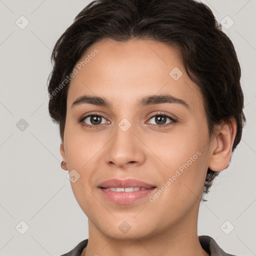
[(225, 169), (231, 158), (232, 146), (236, 134), (234, 118), (223, 121), (216, 127), (216, 135), (211, 141), (209, 168), (213, 171)]

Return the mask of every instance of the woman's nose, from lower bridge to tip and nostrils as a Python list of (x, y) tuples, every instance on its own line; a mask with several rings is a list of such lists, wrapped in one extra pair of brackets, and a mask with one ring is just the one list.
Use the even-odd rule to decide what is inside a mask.
[[(121, 128), (120, 128), (121, 127)], [(145, 161), (145, 145), (141, 135), (131, 125), (127, 130), (116, 125), (115, 134), (106, 148), (105, 161), (116, 168), (127, 168), (131, 165), (141, 165)]]

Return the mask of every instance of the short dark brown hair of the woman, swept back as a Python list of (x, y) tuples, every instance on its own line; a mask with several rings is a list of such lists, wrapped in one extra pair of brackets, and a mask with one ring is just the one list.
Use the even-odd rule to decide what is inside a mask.
[[(214, 124), (235, 118), (235, 149), (245, 122), (240, 65), (231, 40), (211, 10), (194, 0), (93, 0), (77, 14), (53, 48), (48, 77), (49, 114), (59, 124), (62, 141), (66, 77), (91, 44), (106, 38), (152, 39), (177, 46), (185, 71), (202, 93), (209, 134), (214, 133)], [(208, 168), (203, 194), (218, 173)]]

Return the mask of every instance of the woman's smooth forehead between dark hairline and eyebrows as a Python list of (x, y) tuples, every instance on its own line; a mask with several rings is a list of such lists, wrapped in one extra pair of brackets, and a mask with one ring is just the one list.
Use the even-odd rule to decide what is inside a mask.
[(185, 73), (178, 49), (159, 41), (104, 39), (88, 47), (74, 68), (77, 74), (69, 84), (68, 107), (82, 94), (122, 103), (157, 93), (172, 94), (190, 103), (193, 99), (201, 101), (197, 85)]

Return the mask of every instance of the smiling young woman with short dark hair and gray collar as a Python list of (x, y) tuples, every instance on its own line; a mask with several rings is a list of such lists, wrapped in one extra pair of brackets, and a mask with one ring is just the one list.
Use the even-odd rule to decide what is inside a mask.
[(62, 256), (230, 255), (199, 203), (245, 121), (240, 66), (193, 0), (96, 0), (52, 53), (49, 113), (89, 237)]

